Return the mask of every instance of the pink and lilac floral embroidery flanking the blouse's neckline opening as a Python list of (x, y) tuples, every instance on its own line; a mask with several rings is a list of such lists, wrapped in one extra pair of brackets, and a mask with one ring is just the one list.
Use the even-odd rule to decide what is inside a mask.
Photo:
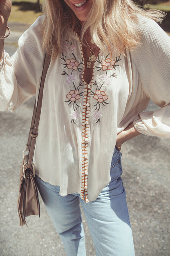
[[(62, 52), (62, 56), (61, 56), (61, 60), (63, 60), (63, 62), (61, 63), (63, 65), (63, 71), (61, 73), (61, 75), (66, 75), (66, 83), (68, 85), (72, 85), (74, 88), (72, 88), (72, 90), (69, 90), (69, 93), (67, 93), (66, 98), (67, 100), (65, 100), (66, 103), (68, 103), (69, 105), (72, 104), (73, 107), (73, 111), (70, 114), (71, 117), (71, 122), (73, 122), (74, 124), (76, 124), (76, 122), (78, 121), (78, 119), (80, 119), (80, 116), (78, 114), (78, 107), (80, 107), (78, 105), (78, 100), (81, 98), (81, 96), (83, 96), (83, 91), (81, 89), (81, 87), (83, 86), (83, 84), (81, 83), (81, 81), (79, 80), (79, 75), (77, 75), (77, 73), (75, 74), (75, 71), (79, 71), (82, 72), (83, 71), (83, 58), (82, 60), (76, 60), (76, 56), (74, 55), (74, 51), (75, 51), (75, 46), (72, 45), (71, 41), (67, 41), (63, 47), (63, 52)], [(69, 56), (69, 58), (66, 58), (65, 53), (69, 53), (71, 56)], [(96, 87), (94, 91), (91, 90), (91, 95), (93, 95), (93, 99), (96, 100), (96, 104), (94, 104), (94, 113), (92, 114), (92, 120), (94, 120), (95, 123), (97, 122), (101, 122), (101, 113), (100, 113), (100, 108), (101, 108), (101, 104), (103, 106), (106, 106), (106, 104), (109, 104), (107, 102), (108, 100), (108, 96), (106, 95), (105, 90), (103, 90), (103, 85), (110, 85), (110, 77), (116, 77), (117, 74), (116, 72), (113, 72), (112, 70), (116, 70), (116, 67), (118, 67), (119, 65), (117, 65), (117, 63), (121, 60), (120, 59), (121, 55), (119, 55), (119, 57), (115, 58), (114, 60), (112, 60), (111, 58), (109, 58), (109, 54), (107, 54), (107, 56), (105, 57), (104, 60), (100, 60), (99, 55), (98, 58), (96, 59), (96, 62), (98, 62), (98, 66), (96, 66), (96, 69), (98, 71), (102, 70), (105, 71), (105, 74), (101, 74), (100, 76), (98, 76), (99, 81), (97, 80), (94, 81), (93, 85)], [(112, 72), (111, 72), (112, 71)], [(107, 73), (109, 72), (109, 73)], [(111, 73), (111, 74), (110, 74)]]

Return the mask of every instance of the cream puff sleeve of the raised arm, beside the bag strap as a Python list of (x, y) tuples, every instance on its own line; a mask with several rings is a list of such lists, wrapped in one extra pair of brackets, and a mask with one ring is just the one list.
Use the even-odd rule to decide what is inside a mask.
[(0, 111), (13, 112), (36, 94), (45, 56), (40, 33), (42, 19), (43, 16), (40, 16), (23, 33), (18, 41), (19, 47), (11, 58), (4, 51), (0, 62)]

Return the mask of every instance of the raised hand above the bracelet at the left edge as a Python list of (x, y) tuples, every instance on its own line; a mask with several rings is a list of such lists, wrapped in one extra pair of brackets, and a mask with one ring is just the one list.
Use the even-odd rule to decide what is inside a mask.
[(11, 13), (12, 0), (0, 0), (0, 26), (6, 25)]

